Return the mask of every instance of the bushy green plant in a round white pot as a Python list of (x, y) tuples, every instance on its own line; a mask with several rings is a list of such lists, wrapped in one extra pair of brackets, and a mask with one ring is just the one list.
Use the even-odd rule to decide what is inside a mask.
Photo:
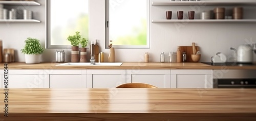
[(41, 61), (41, 54), (44, 53), (44, 48), (42, 48), (38, 39), (27, 38), (24, 48), (20, 51), (25, 54), (26, 64), (37, 64)]

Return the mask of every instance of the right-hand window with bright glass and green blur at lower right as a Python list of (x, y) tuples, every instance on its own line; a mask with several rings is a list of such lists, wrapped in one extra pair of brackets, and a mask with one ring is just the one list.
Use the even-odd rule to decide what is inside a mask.
[(106, 48), (149, 48), (148, 0), (106, 0)]

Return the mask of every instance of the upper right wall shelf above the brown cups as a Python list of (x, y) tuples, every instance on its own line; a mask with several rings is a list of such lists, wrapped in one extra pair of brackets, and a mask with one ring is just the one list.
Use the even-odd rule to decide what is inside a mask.
[(152, 2), (152, 6), (254, 6), (256, 2)]

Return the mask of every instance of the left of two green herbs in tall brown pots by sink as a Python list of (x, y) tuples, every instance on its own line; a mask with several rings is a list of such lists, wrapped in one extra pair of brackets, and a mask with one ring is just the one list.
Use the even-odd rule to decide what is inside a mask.
[(79, 62), (79, 44), (83, 39), (81, 38), (80, 32), (76, 32), (75, 35), (69, 36), (68, 41), (70, 41), (71, 47), (71, 62), (77, 63)]

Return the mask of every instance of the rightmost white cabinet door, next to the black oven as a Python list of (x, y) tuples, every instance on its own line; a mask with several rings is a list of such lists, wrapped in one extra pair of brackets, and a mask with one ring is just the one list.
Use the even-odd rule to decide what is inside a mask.
[(172, 88), (213, 88), (212, 70), (171, 70)]

